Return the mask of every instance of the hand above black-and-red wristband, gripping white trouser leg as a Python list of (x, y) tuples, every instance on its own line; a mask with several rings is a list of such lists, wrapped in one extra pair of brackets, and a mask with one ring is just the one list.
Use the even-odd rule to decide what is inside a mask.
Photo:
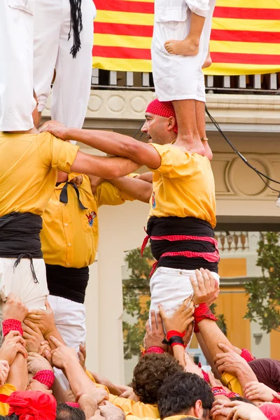
[(191, 296), (188, 297), (188, 299), (186, 299), (183, 304), (181, 304), (181, 307), (176, 309), (172, 316), (167, 316), (162, 305), (159, 305), (160, 316), (162, 317), (162, 321), (165, 325), (165, 330), (176, 330), (179, 332), (186, 331), (188, 325), (195, 319), (193, 317), (195, 307), (193, 302), (191, 302), (191, 298)]

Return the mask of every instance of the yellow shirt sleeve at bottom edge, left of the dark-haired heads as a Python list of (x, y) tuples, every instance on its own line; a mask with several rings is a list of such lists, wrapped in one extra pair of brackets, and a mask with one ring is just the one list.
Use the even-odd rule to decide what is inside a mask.
[(156, 405), (144, 404), (144, 402), (137, 402), (129, 398), (116, 397), (116, 395), (109, 395), (109, 401), (113, 405), (120, 407), (125, 412), (125, 415), (133, 415), (143, 419), (149, 417), (151, 419), (158, 419), (160, 414)]

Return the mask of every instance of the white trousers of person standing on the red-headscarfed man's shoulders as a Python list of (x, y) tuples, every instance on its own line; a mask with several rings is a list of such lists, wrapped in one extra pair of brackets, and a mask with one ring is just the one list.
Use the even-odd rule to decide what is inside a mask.
[[(172, 6), (169, 4), (170, 1)], [(172, 55), (165, 49), (165, 41), (169, 39), (182, 41), (190, 31), (191, 10), (186, 3), (188, 3), (186, 0), (155, 2), (151, 52), (155, 93), (160, 101), (195, 99), (205, 102), (202, 65), (209, 49), (211, 21), (216, 0), (209, 0), (209, 12), (200, 38), (199, 53), (194, 56)]]

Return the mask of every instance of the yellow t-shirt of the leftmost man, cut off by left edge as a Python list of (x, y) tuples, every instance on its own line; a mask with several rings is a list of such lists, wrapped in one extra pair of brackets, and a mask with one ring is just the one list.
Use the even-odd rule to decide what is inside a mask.
[(42, 215), (57, 181), (70, 172), (78, 146), (50, 133), (0, 132), (0, 217), (12, 211)]

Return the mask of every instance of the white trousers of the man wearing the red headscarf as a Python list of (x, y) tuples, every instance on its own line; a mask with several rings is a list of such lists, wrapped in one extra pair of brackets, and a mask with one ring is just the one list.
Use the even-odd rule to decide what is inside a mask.
[[(215, 279), (220, 279), (217, 273), (213, 274)], [(150, 318), (151, 310), (158, 312), (159, 304), (162, 304), (167, 315), (171, 315), (181, 306), (187, 297), (193, 295), (190, 276), (195, 277), (195, 270), (169, 267), (159, 267), (156, 270), (150, 281)]]

